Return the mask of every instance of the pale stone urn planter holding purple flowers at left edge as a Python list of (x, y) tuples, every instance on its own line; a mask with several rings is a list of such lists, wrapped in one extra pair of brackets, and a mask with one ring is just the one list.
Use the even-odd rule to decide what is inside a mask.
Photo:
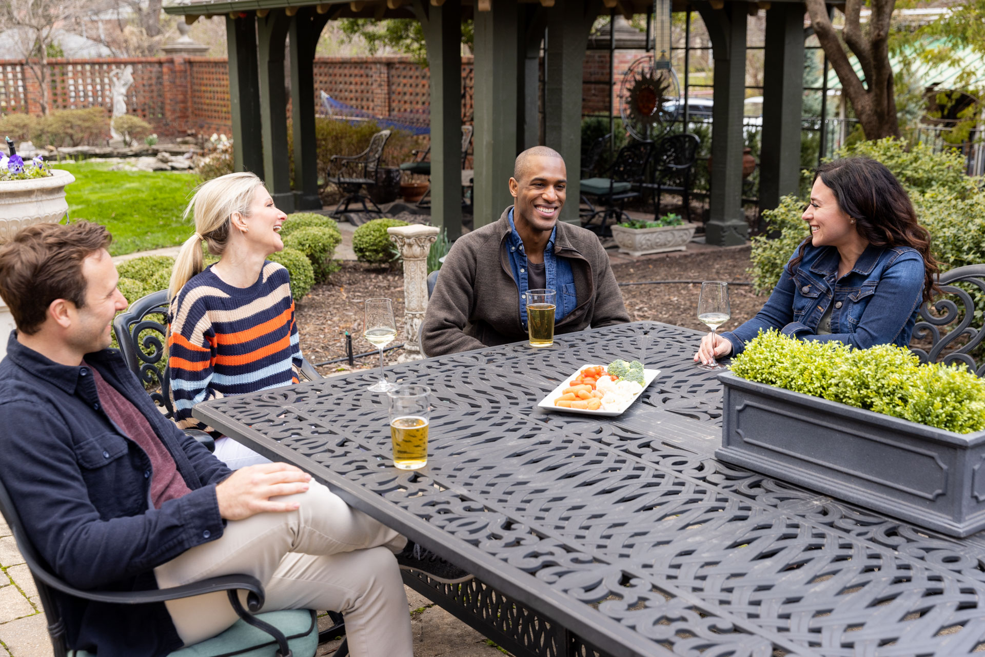
[[(52, 175), (31, 180), (0, 180), (0, 242), (33, 224), (61, 221), (68, 212), (65, 185), (75, 176), (61, 169)], [(0, 299), (0, 358), (7, 353), (7, 336), (14, 329), (14, 318)]]

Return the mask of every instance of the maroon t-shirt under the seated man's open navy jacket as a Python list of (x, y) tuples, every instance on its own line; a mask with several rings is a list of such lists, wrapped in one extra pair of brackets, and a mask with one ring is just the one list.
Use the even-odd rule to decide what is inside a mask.
[(174, 457), (164, 447), (164, 443), (151, 428), (147, 418), (137, 410), (137, 407), (127, 401), (126, 397), (109, 385), (106, 379), (99, 375), (96, 367), (90, 366), (96, 388), (99, 391), (99, 404), (109, 419), (117, 427), (126, 432), (128, 438), (136, 442), (147, 452), (151, 459), (151, 501), (154, 508), (161, 508), (168, 499), (175, 499), (191, 491), (184, 479), (178, 473)]

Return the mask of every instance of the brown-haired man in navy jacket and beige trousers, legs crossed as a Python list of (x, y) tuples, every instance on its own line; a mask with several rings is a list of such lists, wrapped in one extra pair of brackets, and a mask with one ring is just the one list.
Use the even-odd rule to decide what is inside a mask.
[[(294, 466), (230, 470), (157, 410), (110, 344), (127, 301), (99, 225), (44, 224), (0, 247), (0, 296), (18, 330), (0, 362), (4, 484), (28, 538), (82, 589), (141, 590), (246, 573), (263, 611), (346, 616), (354, 655), (412, 656), (399, 567), (432, 560)], [(397, 555), (397, 558), (394, 558)], [(72, 648), (165, 655), (233, 624), (225, 593), (108, 605), (58, 596)]]

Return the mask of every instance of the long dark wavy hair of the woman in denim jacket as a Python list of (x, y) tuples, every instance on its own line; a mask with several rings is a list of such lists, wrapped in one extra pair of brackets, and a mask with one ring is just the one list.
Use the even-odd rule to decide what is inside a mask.
[[(910, 197), (884, 164), (869, 158), (845, 158), (821, 164), (814, 179), (819, 177), (834, 192), (841, 211), (855, 220), (855, 230), (870, 244), (909, 246), (923, 256), (925, 301), (930, 301), (935, 292), (941, 292), (934, 282), (940, 267), (930, 252), (930, 232), (917, 223)], [(810, 243), (808, 236), (790, 261), (791, 276), (797, 273)]]

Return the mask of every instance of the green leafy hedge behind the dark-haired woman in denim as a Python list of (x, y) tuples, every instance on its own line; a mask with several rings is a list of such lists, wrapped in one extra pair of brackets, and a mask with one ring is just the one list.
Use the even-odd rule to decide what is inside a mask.
[[(931, 249), (947, 271), (985, 262), (985, 193), (976, 178), (964, 175), (964, 161), (956, 151), (934, 153), (922, 144), (906, 150), (906, 143), (883, 139), (860, 142), (837, 157), (872, 158), (892, 171), (913, 201), (920, 224), (931, 233)], [(801, 219), (807, 199), (784, 196), (775, 210), (762, 213), (766, 230), (753, 237), (753, 277), (756, 293), (768, 293), (780, 280), (783, 265), (810, 234)], [(766, 235), (779, 233), (774, 239)]]

